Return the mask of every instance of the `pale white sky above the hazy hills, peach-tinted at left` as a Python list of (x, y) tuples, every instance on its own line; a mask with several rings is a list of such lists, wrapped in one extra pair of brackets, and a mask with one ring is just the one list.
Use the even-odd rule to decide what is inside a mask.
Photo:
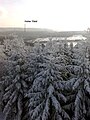
[(58, 31), (90, 27), (90, 0), (0, 0), (0, 27), (23, 27)]

